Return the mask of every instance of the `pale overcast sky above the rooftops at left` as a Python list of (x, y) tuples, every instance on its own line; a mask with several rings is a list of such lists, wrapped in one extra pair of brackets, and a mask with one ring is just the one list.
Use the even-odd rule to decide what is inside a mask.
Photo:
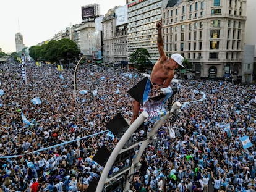
[(15, 52), (15, 33), (23, 35), (25, 46), (33, 46), (53, 36), (66, 27), (82, 21), (81, 7), (100, 4), (100, 14), (105, 15), (114, 6), (124, 6), (126, 0), (8, 0), (0, 6), (0, 48)]

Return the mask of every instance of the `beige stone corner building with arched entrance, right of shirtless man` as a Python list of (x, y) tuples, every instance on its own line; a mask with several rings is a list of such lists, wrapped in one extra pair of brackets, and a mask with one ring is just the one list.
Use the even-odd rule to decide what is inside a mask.
[(192, 63), (195, 78), (242, 80), (246, 0), (164, 0), (164, 49)]

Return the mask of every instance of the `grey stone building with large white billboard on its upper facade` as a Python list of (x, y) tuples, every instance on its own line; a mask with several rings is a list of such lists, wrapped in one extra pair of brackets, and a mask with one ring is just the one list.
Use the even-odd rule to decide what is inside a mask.
[(110, 9), (102, 24), (104, 61), (127, 65), (127, 6)]

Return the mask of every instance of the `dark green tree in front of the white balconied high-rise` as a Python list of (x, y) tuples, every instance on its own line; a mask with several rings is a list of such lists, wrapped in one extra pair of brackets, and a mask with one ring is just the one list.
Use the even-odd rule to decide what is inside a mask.
[(145, 48), (136, 49), (136, 51), (129, 56), (130, 62), (139, 64), (137, 65), (138, 69), (146, 69), (147, 67), (150, 67), (151, 62), (149, 58), (150, 54)]

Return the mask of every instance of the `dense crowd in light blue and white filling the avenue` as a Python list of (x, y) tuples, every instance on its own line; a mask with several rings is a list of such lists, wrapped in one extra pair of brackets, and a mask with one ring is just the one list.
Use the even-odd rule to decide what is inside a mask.
[[(0, 65), (0, 74), (0, 191), (86, 191), (103, 170), (93, 156), (103, 145), (112, 151), (120, 139), (106, 124), (117, 113), (132, 119), (127, 90), (142, 75), (81, 65), (74, 100), (72, 69), (31, 63), (22, 81), (19, 64), (9, 62)], [(129, 191), (211, 192), (210, 185), (214, 191), (255, 191), (255, 85), (190, 79), (175, 86), (181, 114), (158, 130)], [(36, 97), (40, 104), (31, 101)], [(243, 136), (252, 146), (241, 142)], [(111, 172), (125, 165), (130, 162)]]

